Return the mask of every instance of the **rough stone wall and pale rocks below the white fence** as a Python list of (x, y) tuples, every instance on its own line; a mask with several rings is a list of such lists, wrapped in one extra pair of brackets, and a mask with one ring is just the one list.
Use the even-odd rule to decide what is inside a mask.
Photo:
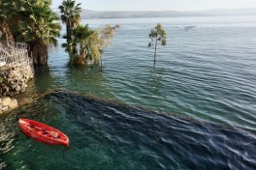
[(17, 100), (11, 97), (25, 92), (28, 81), (33, 77), (34, 71), (30, 66), (0, 67), (0, 114), (17, 107)]

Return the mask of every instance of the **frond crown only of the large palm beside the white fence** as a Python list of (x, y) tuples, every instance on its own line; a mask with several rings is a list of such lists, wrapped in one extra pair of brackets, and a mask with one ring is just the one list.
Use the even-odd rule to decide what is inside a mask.
[(17, 24), (21, 32), (18, 38), (24, 42), (56, 45), (56, 37), (59, 37), (61, 29), (60, 24), (56, 21), (57, 16), (46, 3), (41, 1), (35, 2), (35, 4), (27, 4), (25, 7), (29, 16), (20, 20)]

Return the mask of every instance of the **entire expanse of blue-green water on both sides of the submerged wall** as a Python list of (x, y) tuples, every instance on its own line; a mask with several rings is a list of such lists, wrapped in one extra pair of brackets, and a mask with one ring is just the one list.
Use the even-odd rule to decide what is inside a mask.
[[(70, 68), (68, 54), (50, 47), (48, 68), (36, 70), (23, 96), (61, 87), (113, 102), (58, 92), (2, 115), (0, 167), (255, 169), (255, 21), (256, 16), (83, 20), (93, 28), (121, 25), (103, 67)], [(148, 33), (158, 22), (168, 44), (159, 46), (153, 67)], [(16, 128), (17, 117), (67, 132), (71, 150), (26, 139)]]

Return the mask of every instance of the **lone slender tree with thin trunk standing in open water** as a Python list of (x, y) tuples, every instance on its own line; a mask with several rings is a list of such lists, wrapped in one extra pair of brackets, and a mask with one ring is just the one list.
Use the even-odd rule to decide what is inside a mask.
[(154, 46), (155, 52), (154, 52), (154, 65), (156, 61), (156, 48), (159, 43), (161, 45), (167, 44), (167, 36), (166, 32), (162, 26), (162, 24), (158, 23), (154, 29), (151, 29), (149, 33), (150, 42), (148, 43), (148, 47)]

